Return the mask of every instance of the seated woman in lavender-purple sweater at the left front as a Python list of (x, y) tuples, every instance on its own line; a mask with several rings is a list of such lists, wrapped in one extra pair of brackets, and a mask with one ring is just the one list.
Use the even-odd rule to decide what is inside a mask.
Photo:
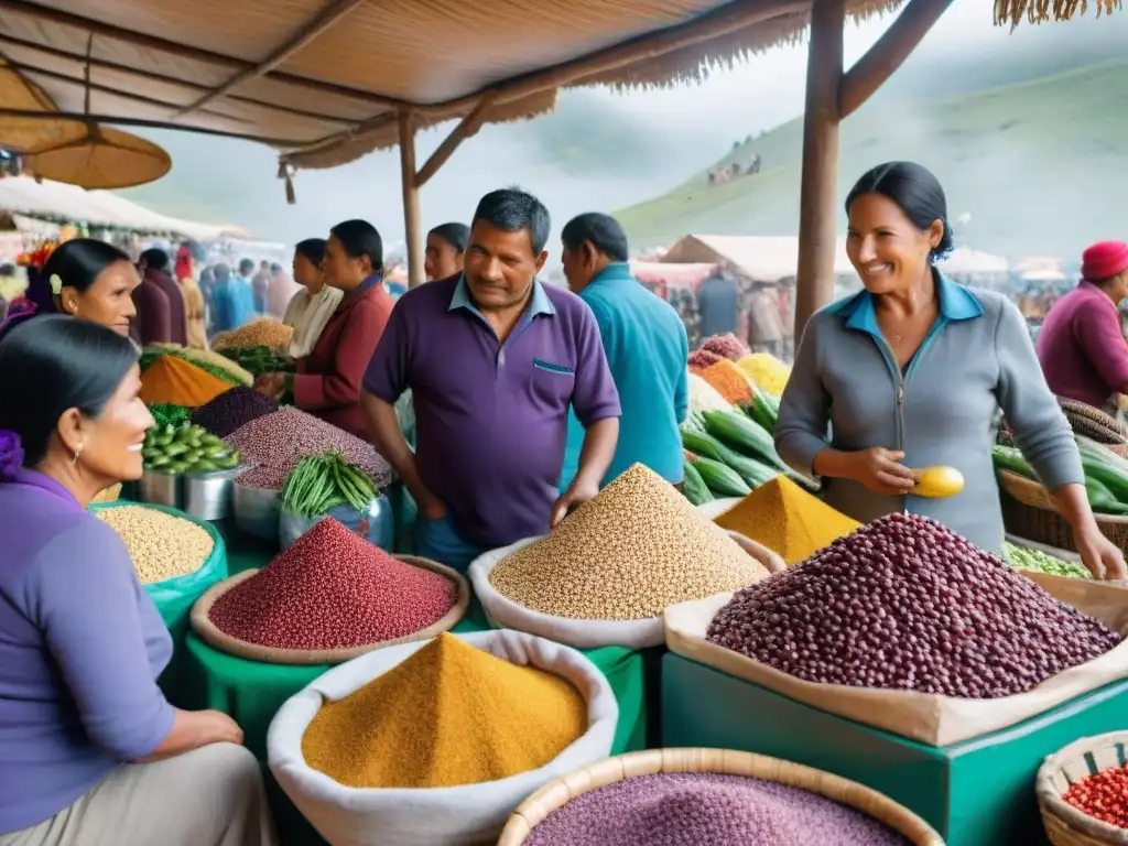
[(0, 338), (0, 846), (272, 846), (262, 776), (215, 711), (174, 708), (173, 645), (87, 511), (141, 476), (133, 344), (43, 317)]

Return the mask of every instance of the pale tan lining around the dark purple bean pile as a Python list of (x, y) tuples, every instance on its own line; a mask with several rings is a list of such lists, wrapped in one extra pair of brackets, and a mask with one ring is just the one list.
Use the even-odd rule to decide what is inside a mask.
[[(1128, 636), (1125, 591), (1083, 579), (1034, 579), (1054, 597)], [(803, 681), (739, 652), (708, 643), (705, 633), (732, 598), (722, 593), (666, 611), (671, 652), (747, 679), (784, 696), (858, 723), (942, 747), (1014, 725), (1128, 676), (1128, 641), (1086, 663), (1058, 673), (1032, 690), (999, 699), (960, 699), (907, 690), (879, 690)]]

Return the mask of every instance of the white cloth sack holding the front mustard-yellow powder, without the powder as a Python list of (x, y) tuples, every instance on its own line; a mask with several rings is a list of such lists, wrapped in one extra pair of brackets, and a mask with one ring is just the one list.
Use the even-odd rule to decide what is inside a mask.
[(611, 751), (619, 708), (603, 675), (575, 650), (520, 632), (458, 635), (515, 664), (566, 678), (588, 700), (588, 731), (544, 767), (465, 787), (346, 787), (311, 769), (301, 751), (306, 729), (325, 700), (349, 696), (425, 643), (379, 650), (336, 667), (292, 696), (266, 735), (267, 760), (282, 790), (332, 846), (464, 846), (496, 843), (505, 820), (554, 778), (602, 760)]

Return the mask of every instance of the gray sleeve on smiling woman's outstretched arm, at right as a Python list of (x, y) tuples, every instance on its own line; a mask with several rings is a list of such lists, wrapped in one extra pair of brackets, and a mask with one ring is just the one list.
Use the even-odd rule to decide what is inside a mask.
[(995, 325), (998, 404), (1014, 431), (1014, 442), (1048, 491), (1085, 484), (1073, 430), (1057, 404), (1034, 353), (1017, 307), (1002, 299)]

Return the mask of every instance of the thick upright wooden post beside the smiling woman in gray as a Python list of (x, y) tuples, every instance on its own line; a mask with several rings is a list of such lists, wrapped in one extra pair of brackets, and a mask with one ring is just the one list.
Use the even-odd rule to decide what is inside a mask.
[(816, 0), (807, 55), (803, 184), (799, 201), (795, 340), (835, 290), (838, 204), (838, 91), (843, 78), (846, 0)]

